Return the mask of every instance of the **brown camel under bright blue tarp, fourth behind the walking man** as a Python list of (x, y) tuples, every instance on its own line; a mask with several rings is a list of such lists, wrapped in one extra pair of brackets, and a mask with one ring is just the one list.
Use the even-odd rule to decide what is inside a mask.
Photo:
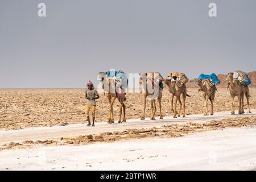
[(208, 100), (211, 103), (210, 115), (213, 115), (213, 102), (216, 93), (216, 86), (213, 85), (208, 79), (196, 79), (196, 84), (199, 86), (199, 92), (203, 92), (204, 97), (204, 115), (208, 114)]

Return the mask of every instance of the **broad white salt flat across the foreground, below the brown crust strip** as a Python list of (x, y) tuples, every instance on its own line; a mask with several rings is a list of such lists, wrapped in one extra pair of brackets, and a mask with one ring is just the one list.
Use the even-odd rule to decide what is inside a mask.
[(255, 170), (256, 127), (0, 152), (2, 170)]

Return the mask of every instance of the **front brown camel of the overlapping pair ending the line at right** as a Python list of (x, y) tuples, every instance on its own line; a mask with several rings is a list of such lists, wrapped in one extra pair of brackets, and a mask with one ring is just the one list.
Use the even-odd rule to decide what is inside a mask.
[[(237, 96), (238, 98), (238, 114), (243, 114), (245, 111), (243, 110), (243, 97), (245, 95), (245, 86), (243, 84), (240, 84), (238, 80), (235, 80), (233, 78), (234, 73), (229, 73), (226, 77), (226, 80), (229, 82), (228, 88), (230, 92), (230, 96), (232, 98), (231, 102), (231, 114), (234, 115), (234, 98)], [(249, 92), (247, 92), (247, 96), (249, 97)], [(247, 98), (247, 97), (246, 97)]]

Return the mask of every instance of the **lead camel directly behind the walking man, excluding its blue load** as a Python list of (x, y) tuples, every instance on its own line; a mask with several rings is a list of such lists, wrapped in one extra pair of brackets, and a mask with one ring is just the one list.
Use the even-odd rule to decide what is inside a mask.
[[(114, 78), (107, 77), (105, 72), (100, 72), (98, 74), (98, 77), (101, 80), (102, 89), (104, 89), (104, 95), (106, 96), (106, 98), (109, 102), (109, 120), (108, 120), (108, 123), (110, 123), (110, 124), (114, 123), (113, 104), (114, 104), (114, 101), (115, 101), (116, 98), (119, 101), (119, 120), (118, 120), (118, 123), (126, 122), (126, 114), (125, 114), (126, 97), (119, 97), (118, 94), (117, 94), (118, 88), (122, 89), (122, 85), (116, 84)], [(121, 121), (122, 111), (123, 111), (123, 120)]]

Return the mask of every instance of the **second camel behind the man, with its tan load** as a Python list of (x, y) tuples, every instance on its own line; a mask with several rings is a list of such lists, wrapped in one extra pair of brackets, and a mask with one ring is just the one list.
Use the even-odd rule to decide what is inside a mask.
[[(146, 110), (146, 102), (147, 97), (150, 97), (151, 100), (151, 120), (155, 120), (155, 112), (156, 112), (156, 99), (159, 102), (159, 109), (160, 109), (160, 119), (163, 119), (162, 114), (162, 89), (159, 87), (159, 83), (164, 81), (164, 78), (160, 75), (158, 72), (149, 72), (149, 73), (141, 73), (139, 74), (139, 84), (143, 86), (143, 110), (142, 110), (142, 116), (141, 120), (145, 119), (145, 110)], [(158, 86), (155, 86), (158, 85)], [(152, 91), (154, 92), (151, 92)]]

